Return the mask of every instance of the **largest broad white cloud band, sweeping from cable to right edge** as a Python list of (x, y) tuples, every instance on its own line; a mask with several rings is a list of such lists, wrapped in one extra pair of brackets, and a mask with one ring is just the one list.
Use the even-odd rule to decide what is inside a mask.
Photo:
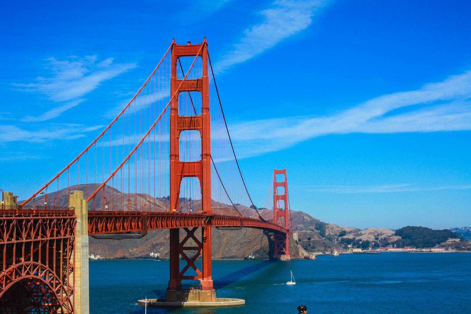
[[(230, 125), (241, 157), (279, 151), (327, 134), (471, 130), (471, 71), (421, 89), (370, 99), (331, 116), (288, 117)], [(420, 109), (407, 111), (408, 106)], [(395, 113), (403, 108), (404, 112)]]

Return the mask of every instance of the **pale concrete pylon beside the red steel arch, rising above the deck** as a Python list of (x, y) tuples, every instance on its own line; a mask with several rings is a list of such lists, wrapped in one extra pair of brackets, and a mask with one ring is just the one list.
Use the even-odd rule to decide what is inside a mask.
[(69, 205), (75, 208), (75, 314), (89, 314), (88, 205), (82, 191), (73, 191)]

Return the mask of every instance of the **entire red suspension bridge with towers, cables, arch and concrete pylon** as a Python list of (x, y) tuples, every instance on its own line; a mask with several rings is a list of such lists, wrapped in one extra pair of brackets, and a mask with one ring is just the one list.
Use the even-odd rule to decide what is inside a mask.
[[(290, 258), (286, 169), (274, 170), (272, 185), (265, 219), (239, 168), (206, 38), (173, 40), (130, 102), (55, 177), (21, 204), (0, 190), (0, 309), (88, 314), (88, 236), (153, 229), (170, 229), (166, 301), (214, 302), (211, 227), (267, 230), (272, 258)], [(200, 282), (197, 296), (182, 288), (187, 280)]]

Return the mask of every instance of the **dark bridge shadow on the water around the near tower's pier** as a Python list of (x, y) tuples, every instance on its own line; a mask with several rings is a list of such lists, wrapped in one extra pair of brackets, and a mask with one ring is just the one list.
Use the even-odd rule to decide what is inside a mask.
[[(227, 285), (241, 280), (242, 278), (253, 274), (259, 271), (262, 268), (272, 265), (276, 261), (265, 260), (263, 262), (257, 263), (255, 265), (245, 267), (234, 273), (227, 274), (224, 277), (218, 278), (214, 281), (214, 289), (219, 290), (226, 287)], [(165, 298), (165, 291), (162, 290), (152, 290), (155, 293), (155, 298)], [(147, 307), (147, 312), (149, 313), (171, 313), (181, 309), (181, 307)], [(199, 307), (198, 314), (214, 314), (216, 313), (217, 308), (213, 307)], [(145, 308), (142, 308), (132, 311), (129, 314), (144, 314)]]

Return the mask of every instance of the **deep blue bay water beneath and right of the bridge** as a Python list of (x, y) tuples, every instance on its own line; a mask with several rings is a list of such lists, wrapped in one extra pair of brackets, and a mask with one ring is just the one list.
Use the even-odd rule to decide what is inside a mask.
[[(147, 308), (160, 313), (308, 314), (471, 313), (471, 253), (382, 253), (318, 256), (317, 260), (213, 260), (219, 298), (244, 306)], [(290, 270), (296, 285), (290, 280)], [(169, 262), (90, 261), (91, 314), (144, 314), (140, 298), (163, 298)]]

